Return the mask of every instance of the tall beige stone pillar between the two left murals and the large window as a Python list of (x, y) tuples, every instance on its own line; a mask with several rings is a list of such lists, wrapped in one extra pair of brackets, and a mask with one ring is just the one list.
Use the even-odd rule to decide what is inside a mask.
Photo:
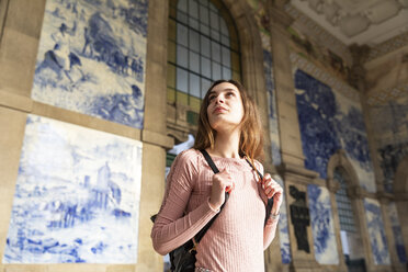
[(169, 3), (149, 0), (137, 271), (163, 270), (163, 257), (154, 250), (150, 239), (150, 216), (160, 208), (165, 194), (166, 149), (173, 147), (173, 139), (166, 135), (168, 24)]

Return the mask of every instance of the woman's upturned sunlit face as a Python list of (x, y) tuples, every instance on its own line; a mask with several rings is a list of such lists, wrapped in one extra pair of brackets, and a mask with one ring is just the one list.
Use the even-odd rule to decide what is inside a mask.
[(213, 129), (234, 129), (243, 117), (243, 105), (238, 88), (229, 82), (215, 86), (208, 94), (208, 122)]

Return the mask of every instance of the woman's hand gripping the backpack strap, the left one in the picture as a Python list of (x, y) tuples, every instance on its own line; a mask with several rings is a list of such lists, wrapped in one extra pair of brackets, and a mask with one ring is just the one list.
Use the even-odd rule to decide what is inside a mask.
[(224, 169), (213, 175), (213, 186), (211, 190), (209, 205), (213, 209), (218, 209), (225, 202), (225, 192), (234, 189), (234, 181), (229, 172)]

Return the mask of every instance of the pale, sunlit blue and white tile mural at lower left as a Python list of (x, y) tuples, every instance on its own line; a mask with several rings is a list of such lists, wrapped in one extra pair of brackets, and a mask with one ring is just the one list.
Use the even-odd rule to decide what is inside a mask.
[(136, 263), (141, 143), (29, 115), (4, 263)]

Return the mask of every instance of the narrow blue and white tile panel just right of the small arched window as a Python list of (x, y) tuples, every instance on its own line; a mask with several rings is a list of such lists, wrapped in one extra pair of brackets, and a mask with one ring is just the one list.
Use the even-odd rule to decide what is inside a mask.
[(388, 245), (384, 233), (379, 203), (376, 200), (364, 199), (364, 207), (374, 263), (389, 264)]

